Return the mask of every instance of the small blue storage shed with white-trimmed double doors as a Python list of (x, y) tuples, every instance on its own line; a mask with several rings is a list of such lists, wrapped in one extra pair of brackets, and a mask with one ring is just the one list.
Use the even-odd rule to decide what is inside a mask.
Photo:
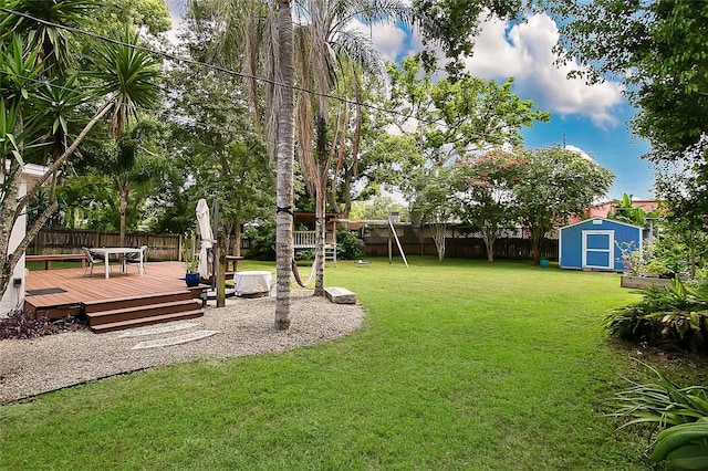
[(642, 228), (605, 218), (592, 218), (562, 227), (559, 265), (570, 270), (623, 271), (620, 247), (633, 243), (642, 250)]

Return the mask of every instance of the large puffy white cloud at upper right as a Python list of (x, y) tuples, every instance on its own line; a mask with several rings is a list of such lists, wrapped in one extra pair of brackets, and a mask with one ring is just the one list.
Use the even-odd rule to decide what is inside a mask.
[(517, 92), (542, 109), (589, 116), (604, 128), (617, 125), (613, 111), (622, 103), (622, 86), (615, 82), (587, 85), (582, 78), (568, 78), (568, 73), (580, 66), (554, 64), (552, 48), (559, 31), (551, 18), (533, 14), (509, 27), (508, 21), (497, 18), (483, 23), (475, 55), (466, 60), (468, 72), (486, 78), (513, 76)]

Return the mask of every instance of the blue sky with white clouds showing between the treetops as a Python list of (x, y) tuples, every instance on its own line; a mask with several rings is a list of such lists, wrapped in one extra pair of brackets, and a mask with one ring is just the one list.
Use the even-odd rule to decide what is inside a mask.
[[(180, 23), (183, 0), (166, 0), (173, 25)], [(371, 38), (383, 59), (399, 62), (423, 50), (415, 33), (396, 24), (373, 27), (354, 22)], [(466, 60), (473, 76), (503, 82), (514, 77), (514, 92), (551, 113), (549, 123), (537, 123), (522, 130), (524, 145), (539, 148), (561, 145), (589, 154), (612, 170), (615, 181), (608, 199), (623, 193), (634, 199), (653, 198), (654, 172), (641, 155), (649, 150), (646, 142), (634, 137), (628, 123), (635, 113), (622, 94), (622, 85), (604, 82), (587, 85), (582, 78), (568, 78), (577, 64), (558, 66), (552, 52), (558, 43), (555, 22), (545, 13), (530, 14), (524, 22), (489, 19), (476, 39), (475, 54)]]

